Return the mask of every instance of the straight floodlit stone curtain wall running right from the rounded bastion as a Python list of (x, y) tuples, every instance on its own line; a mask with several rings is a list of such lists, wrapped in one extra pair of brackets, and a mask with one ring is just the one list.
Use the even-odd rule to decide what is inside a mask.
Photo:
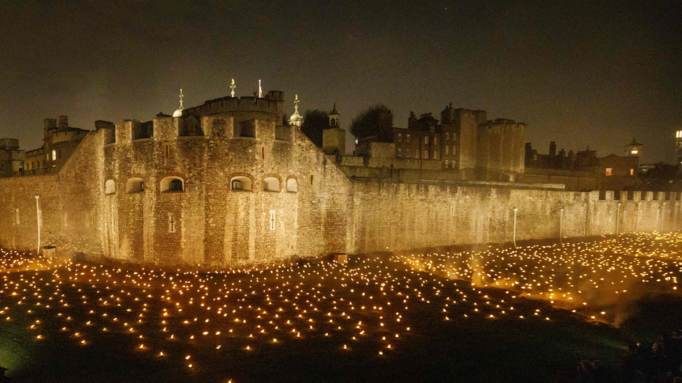
[[(466, 187), (448, 183), (356, 183), (356, 251), (409, 250), (464, 243), (503, 243), (516, 239), (593, 236), (619, 232), (679, 230), (678, 195), (639, 192), (614, 200), (561, 190)], [(620, 213), (618, 203), (621, 204)], [(637, 212), (639, 205), (639, 213)], [(564, 209), (563, 216), (560, 209)], [(662, 225), (662, 226), (661, 226)]]

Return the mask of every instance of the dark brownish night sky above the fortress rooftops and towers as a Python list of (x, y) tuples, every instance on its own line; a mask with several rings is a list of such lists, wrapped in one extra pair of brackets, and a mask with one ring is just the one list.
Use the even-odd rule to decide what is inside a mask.
[[(2, 1), (0, 137), (42, 144), (72, 126), (149, 121), (228, 96), (285, 92), (342, 127), (384, 103), (394, 124), (454, 107), (528, 123), (541, 153), (674, 161), (682, 129), (682, 2)], [(351, 137), (348, 137), (349, 141)]]

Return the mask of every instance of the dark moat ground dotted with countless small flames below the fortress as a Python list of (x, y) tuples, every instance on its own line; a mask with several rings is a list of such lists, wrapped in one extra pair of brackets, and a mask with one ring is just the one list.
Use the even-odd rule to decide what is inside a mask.
[(682, 328), (682, 234), (222, 273), (0, 250), (12, 382), (574, 382)]

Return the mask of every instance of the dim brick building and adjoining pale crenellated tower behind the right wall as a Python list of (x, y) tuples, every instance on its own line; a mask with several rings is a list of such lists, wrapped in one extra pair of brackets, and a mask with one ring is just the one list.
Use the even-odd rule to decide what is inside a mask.
[[(358, 140), (354, 156), (342, 158), (344, 172), (355, 177), (523, 181), (525, 123), (487, 120), (484, 110), (448, 105), (440, 121), (431, 113), (410, 112), (407, 128), (393, 137)], [(359, 167), (355, 164), (362, 164)], [(345, 166), (344, 166), (345, 165)]]

